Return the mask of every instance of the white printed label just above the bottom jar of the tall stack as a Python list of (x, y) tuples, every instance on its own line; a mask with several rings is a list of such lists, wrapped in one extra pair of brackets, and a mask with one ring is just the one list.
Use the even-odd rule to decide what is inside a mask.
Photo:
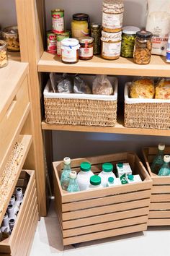
[(120, 14), (108, 14), (103, 12), (102, 26), (115, 30), (122, 27), (122, 13)]

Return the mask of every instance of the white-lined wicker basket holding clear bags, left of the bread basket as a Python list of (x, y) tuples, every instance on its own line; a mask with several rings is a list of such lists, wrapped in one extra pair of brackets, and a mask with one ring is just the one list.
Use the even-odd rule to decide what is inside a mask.
[(117, 119), (117, 78), (114, 95), (50, 93), (50, 81), (44, 90), (45, 121), (48, 124), (73, 124), (114, 127)]

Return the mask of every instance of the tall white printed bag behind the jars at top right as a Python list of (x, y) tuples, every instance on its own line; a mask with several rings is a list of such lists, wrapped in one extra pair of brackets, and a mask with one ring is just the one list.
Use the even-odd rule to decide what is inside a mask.
[(152, 54), (166, 56), (170, 33), (170, 0), (148, 0), (146, 30), (153, 33)]

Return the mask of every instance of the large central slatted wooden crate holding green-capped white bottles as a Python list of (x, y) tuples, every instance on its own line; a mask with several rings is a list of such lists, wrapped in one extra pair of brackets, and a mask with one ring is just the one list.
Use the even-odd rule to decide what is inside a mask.
[(151, 177), (135, 153), (117, 153), (71, 161), (79, 171), (80, 163), (89, 161), (98, 174), (102, 163), (128, 162), (133, 174), (140, 174), (143, 182), (106, 187), (81, 192), (64, 192), (60, 177), (63, 161), (53, 163), (55, 210), (60, 221), (63, 244), (102, 239), (147, 229), (151, 197)]

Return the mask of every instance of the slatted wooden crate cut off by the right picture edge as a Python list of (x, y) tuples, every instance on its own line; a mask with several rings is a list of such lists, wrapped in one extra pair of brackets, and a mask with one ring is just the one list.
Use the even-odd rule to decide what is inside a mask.
[[(156, 156), (158, 148), (143, 148), (143, 156), (148, 173), (153, 180), (151, 189), (151, 204), (149, 208), (148, 226), (170, 225), (170, 176), (153, 174), (150, 164)], [(165, 154), (170, 155), (170, 147), (166, 147)]]

